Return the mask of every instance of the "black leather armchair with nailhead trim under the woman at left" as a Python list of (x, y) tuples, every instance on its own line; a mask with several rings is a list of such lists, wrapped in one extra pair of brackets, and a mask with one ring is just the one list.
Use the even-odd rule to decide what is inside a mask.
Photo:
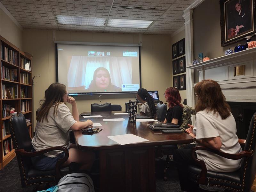
[[(12, 136), (13, 146), (17, 156), (20, 179), (22, 188), (31, 185), (55, 184), (61, 177), (62, 173), (68, 172), (68, 167), (60, 170), (60, 165), (68, 159), (68, 150), (65, 147), (52, 147), (42, 151), (31, 152), (32, 144), (26, 124), (26, 118), (22, 113), (17, 116), (13, 115), (10, 119), (10, 133)], [(55, 170), (39, 171), (36, 170), (31, 162), (31, 157), (38, 156), (53, 150), (61, 150), (65, 152), (65, 157), (59, 159)]]

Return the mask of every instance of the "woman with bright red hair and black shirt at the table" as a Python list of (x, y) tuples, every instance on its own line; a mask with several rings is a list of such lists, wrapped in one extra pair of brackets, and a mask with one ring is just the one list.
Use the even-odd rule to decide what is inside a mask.
[(168, 111), (164, 123), (174, 123), (181, 125), (181, 116), (183, 113), (183, 106), (180, 104), (181, 97), (178, 89), (169, 87), (164, 92), (165, 101), (168, 102)]

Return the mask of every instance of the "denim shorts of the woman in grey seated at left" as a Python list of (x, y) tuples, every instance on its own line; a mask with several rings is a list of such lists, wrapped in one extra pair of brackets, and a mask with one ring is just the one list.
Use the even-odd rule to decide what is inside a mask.
[[(69, 149), (68, 149), (69, 150)], [(31, 152), (35, 152), (36, 150), (32, 148)], [(47, 157), (45, 155), (39, 155), (31, 158), (33, 166), (40, 171), (48, 171), (55, 169), (55, 165), (60, 158), (63, 158), (65, 153), (62, 152), (57, 157)]]

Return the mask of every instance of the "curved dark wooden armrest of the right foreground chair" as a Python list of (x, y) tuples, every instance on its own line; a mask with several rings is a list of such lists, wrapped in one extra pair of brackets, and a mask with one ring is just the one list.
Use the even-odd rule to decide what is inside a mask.
[(207, 148), (207, 147), (204, 147), (204, 146), (197, 146), (197, 147), (192, 148), (192, 151), (191, 151), (192, 158), (195, 161), (195, 163), (199, 164), (200, 167), (201, 167), (201, 173), (199, 175), (198, 184), (203, 184), (203, 185), (207, 184), (207, 180), (206, 180), (207, 169), (206, 169), (206, 165), (205, 165), (204, 161), (197, 158), (196, 150), (211, 151), (211, 152), (213, 152), (213, 153), (215, 153), (219, 156), (225, 157), (227, 159), (234, 159), (234, 160), (241, 159), (243, 157), (249, 157), (249, 156), (253, 155), (253, 153), (250, 152), (250, 151), (242, 151), (240, 153), (230, 154), (230, 153), (224, 153), (224, 152), (220, 152), (220, 151), (217, 151), (217, 150), (214, 150), (214, 149), (210, 149), (210, 148)]

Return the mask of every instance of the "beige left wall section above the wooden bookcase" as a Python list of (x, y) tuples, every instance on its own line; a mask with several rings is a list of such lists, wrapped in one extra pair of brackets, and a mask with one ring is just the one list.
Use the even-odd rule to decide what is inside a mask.
[(22, 29), (2, 9), (0, 9), (0, 35), (23, 51)]

